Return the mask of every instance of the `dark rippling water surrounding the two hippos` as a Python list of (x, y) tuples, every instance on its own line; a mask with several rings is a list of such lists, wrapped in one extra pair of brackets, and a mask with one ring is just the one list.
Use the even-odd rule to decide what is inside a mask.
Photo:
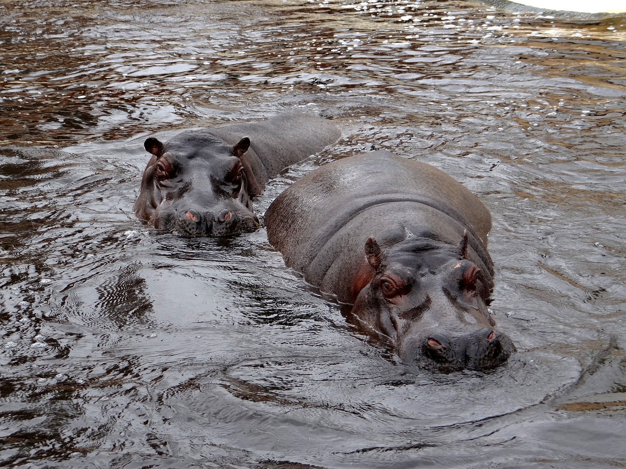
[[(451, 1), (0, 1), (0, 465), (626, 466), (626, 19)], [(132, 204), (156, 133), (321, 111), (491, 209), (520, 353), (426, 373), (368, 343), (264, 230)]]

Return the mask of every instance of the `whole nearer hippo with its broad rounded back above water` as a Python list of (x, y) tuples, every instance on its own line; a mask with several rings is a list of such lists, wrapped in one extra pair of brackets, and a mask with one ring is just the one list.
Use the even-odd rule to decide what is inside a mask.
[(480, 370), (515, 351), (487, 309), (490, 213), (439, 169), (387, 151), (334, 161), (280, 194), (265, 224), (287, 266), (354, 305), (406, 363)]

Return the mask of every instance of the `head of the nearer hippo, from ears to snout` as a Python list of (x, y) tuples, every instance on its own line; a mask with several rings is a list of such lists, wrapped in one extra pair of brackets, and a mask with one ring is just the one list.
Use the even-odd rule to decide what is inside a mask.
[(487, 308), (491, 276), (466, 259), (466, 234), (459, 246), (416, 237), (385, 252), (369, 238), (365, 251), (369, 273), (355, 282), (352, 313), (403, 361), (484, 370), (515, 351), (494, 329)]

